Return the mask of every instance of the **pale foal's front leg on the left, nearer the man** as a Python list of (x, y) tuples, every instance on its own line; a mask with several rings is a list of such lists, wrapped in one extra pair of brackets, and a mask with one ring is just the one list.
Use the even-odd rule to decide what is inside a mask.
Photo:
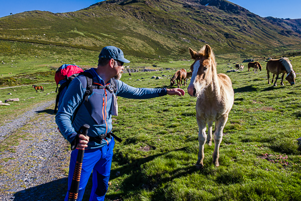
[(204, 166), (203, 159), (204, 159), (204, 145), (206, 142), (206, 122), (198, 119), (198, 126), (199, 126), (199, 153), (198, 153), (198, 161), (196, 163), (196, 167), (198, 169), (202, 168)]

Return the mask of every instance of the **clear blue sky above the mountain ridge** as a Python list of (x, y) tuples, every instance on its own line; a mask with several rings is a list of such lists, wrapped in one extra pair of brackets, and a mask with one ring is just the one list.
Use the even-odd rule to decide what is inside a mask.
[[(87, 8), (101, 0), (0, 0), (0, 18), (25, 11), (65, 13)], [(261, 17), (301, 19), (301, 0), (230, 0)]]

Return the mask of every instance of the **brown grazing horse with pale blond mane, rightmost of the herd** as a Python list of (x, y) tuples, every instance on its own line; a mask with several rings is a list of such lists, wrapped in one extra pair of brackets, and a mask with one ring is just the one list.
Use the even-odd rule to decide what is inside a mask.
[(290, 85), (295, 84), (294, 79), (296, 78), (296, 74), (292, 70), (292, 66), (287, 58), (269, 60), (266, 63), (266, 72), (267, 72), (267, 84), (270, 84), (269, 72), (271, 72), (273, 74), (272, 82), (274, 81), (274, 76), (276, 74), (274, 86), (277, 86), (276, 82), (277, 82), (277, 79), (278, 79), (278, 76), (280, 73), (282, 73), (280, 85), (284, 85), (283, 77), (284, 77), (285, 73), (287, 74), (285, 80), (287, 80)]

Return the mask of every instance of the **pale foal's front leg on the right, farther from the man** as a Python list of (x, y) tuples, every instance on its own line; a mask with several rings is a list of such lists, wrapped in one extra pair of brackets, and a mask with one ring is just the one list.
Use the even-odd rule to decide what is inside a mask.
[(215, 132), (214, 132), (214, 151), (212, 154), (213, 163), (217, 167), (219, 166), (218, 158), (219, 158), (219, 146), (223, 139), (223, 129), (227, 123), (228, 114), (223, 115), (215, 122)]

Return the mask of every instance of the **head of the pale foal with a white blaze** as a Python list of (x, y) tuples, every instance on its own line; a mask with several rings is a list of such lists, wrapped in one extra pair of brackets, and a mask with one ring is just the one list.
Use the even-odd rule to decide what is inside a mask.
[(188, 86), (188, 93), (197, 97), (202, 89), (212, 81), (212, 75), (216, 71), (215, 58), (209, 45), (205, 45), (199, 52), (189, 48), (189, 52), (195, 62), (190, 67), (192, 76)]

